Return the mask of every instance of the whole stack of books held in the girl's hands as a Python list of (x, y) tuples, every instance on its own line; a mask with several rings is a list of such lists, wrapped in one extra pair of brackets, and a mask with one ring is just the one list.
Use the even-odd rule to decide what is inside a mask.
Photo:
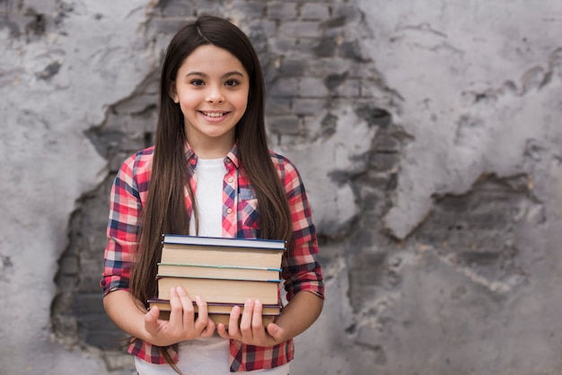
[(248, 299), (263, 305), (265, 326), (281, 313), (279, 284), (283, 240), (250, 240), (187, 235), (163, 235), (158, 263), (158, 295), (148, 301), (160, 318), (170, 318), (170, 289), (182, 286), (194, 301), (207, 302), (209, 317), (228, 326), (234, 306), (243, 311)]

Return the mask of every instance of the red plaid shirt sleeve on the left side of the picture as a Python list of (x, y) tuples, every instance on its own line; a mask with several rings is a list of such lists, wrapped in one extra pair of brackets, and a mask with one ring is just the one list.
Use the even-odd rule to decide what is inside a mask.
[(111, 187), (108, 244), (100, 282), (103, 295), (116, 290), (128, 290), (130, 268), (138, 246), (138, 222), (142, 209), (134, 166), (133, 156), (121, 165)]

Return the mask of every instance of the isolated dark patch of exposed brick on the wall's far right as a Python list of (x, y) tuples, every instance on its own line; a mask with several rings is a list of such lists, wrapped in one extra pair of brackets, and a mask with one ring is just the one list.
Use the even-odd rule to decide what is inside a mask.
[(472, 266), (489, 279), (518, 272), (510, 260), (514, 257), (514, 222), (522, 206), (535, 205), (526, 184), (520, 187), (519, 180), (487, 176), (469, 194), (435, 197), (432, 215), (414, 238), (439, 244), (440, 253), (454, 253), (458, 263)]

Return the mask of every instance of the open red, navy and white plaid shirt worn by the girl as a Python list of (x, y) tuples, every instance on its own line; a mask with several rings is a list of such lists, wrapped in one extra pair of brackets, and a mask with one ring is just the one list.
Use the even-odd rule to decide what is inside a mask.
[[(101, 279), (104, 295), (116, 290), (128, 290), (129, 270), (138, 246), (139, 217), (145, 206), (152, 171), (154, 146), (129, 157), (121, 166), (111, 188), (110, 218), (108, 222), (108, 245), (105, 249), (105, 264)], [(285, 280), (287, 301), (294, 293), (309, 291), (324, 296), (321, 266), (317, 261), (318, 242), (311, 209), (303, 187), (303, 181), (294, 165), (285, 157), (271, 152), (271, 159), (287, 194), (293, 218), (293, 241), (283, 257), (281, 276)], [(186, 145), (186, 158), (191, 186), (197, 189), (197, 155)], [(227, 173), (223, 189), (223, 236), (235, 238), (258, 238), (259, 216), (257, 201), (237, 158), (233, 147), (224, 158)], [(191, 212), (191, 201), (186, 195), (186, 207)], [(128, 352), (146, 362), (166, 363), (158, 347), (135, 339)], [(171, 356), (178, 359), (177, 346), (173, 345)], [(268, 369), (285, 364), (293, 359), (294, 344), (289, 340), (272, 347), (230, 342), (231, 372)]]

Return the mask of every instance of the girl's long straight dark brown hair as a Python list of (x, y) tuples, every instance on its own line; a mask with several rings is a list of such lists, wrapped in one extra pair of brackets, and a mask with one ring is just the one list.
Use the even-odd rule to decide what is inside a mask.
[(171, 39), (162, 65), (152, 177), (143, 209), (138, 256), (130, 280), (133, 296), (145, 303), (157, 292), (156, 264), (162, 254), (162, 234), (187, 234), (189, 231), (186, 188), (197, 220), (184, 149), (187, 141), (184, 117), (179, 105), (171, 100), (170, 92), (183, 61), (195, 49), (208, 44), (224, 48), (237, 57), (250, 76), (248, 106), (236, 125), (235, 138), (241, 168), (258, 198), (259, 237), (290, 241), (293, 233), (285, 189), (268, 150), (265, 85), (259, 58), (250, 39), (233, 23), (215, 16), (201, 16)]

